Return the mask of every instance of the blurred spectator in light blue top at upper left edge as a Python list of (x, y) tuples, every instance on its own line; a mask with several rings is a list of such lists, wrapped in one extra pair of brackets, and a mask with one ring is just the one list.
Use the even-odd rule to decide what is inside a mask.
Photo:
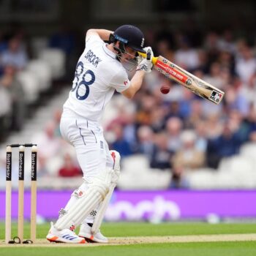
[(12, 37), (10, 39), (7, 50), (4, 50), (1, 53), (0, 60), (1, 67), (5, 67), (7, 65), (11, 65), (16, 69), (23, 69), (26, 67), (28, 56), (19, 37)]

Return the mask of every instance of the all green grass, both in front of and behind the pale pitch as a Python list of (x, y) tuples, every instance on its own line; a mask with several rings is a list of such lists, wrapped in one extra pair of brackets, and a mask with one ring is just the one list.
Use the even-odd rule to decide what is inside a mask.
[[(38, 225), (37, 238), (45, 238), (49, 224)], [(16, 233), (16, 225), (12, 235)], [(25, 225), (25, 237), (29, 238), (29, 225)], [(256, 233), (256, 224), (217, 224), (207, 223), (106, 223), (102, 226), (106, 236), (186, 236), (205, 234), (244, 234)], [(4, 239), (4, 224), (0, 225), (0, 239)], [(236, 242), (200, 242), (200, 243), (168, 243), (168, 244), (131, 244), (118, 246), (79, 246), (79, 247), (0, 247), (0, 255), (149, 255), (149, 256), (240, 256), (256, 255), (255, 241)]]

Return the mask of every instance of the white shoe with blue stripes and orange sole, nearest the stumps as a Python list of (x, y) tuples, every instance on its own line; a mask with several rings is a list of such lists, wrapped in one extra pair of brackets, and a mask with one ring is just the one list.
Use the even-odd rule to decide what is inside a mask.
[(55, 243), (67, 243), (67, 244), (86, 244), (86, 240), (75, 234), (75, 232), (68, 228), (64, 230), (57, 230), (53, 222), (50, 222), (50, 230), (46, 236), (47, 240)]

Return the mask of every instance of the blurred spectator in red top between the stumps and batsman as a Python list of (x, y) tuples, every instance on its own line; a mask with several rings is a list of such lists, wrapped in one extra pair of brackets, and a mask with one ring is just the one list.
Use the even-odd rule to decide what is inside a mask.
[(64, 155), (64, 164), (59, 169), (59, 176), (61, 177), (75, 177), (83, 176), (83, 172), (78, 165), (75, 165), (70, 154)]

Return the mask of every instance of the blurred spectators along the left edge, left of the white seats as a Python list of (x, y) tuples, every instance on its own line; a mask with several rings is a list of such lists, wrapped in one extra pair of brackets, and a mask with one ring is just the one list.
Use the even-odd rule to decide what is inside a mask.
[(0, 31), (0, 129), (2, 140), (10, 130), (19, 130), (26, 112), (24, 91), (17, 73), (28, 64), (22, 31)]

